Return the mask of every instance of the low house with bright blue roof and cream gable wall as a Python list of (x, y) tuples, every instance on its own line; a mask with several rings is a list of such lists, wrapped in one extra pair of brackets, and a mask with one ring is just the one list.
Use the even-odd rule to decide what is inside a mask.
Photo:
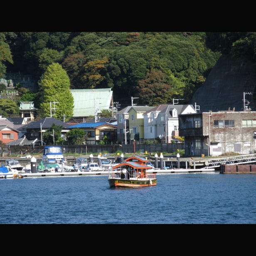
[(69, 126), (68, 129), (79, 128), (87, 132), (87, 144), (99, 144), (101, 140), (106, 136), (106, 140), (109, 144), (116, 144), (117, 136), (116, 129), (117, 126), (106, 123), (106, 122), (97, 122), (97, 123), (78, 123), (74, 126)]

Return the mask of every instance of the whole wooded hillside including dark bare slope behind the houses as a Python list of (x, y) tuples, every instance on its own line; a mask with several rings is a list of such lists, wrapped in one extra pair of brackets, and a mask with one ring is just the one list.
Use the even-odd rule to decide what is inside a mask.
[(17, 85), (13, 108), (19, 101), (42, 106), (41, 79), (57, 63), (70, 89), (112, 88), (121, 108), (131, 97), (157, 106), (173, 98), (188, 103), (194, 95), (201, 111), (240, 110), (244, 91), (255, 97), (255, 45), (255, 32), (0, 32), (0, 76), (20, 71), (38, 81), (37, 93)]

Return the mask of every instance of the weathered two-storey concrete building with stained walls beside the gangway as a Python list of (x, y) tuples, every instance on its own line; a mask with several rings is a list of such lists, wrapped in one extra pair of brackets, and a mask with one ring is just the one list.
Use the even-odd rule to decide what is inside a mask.
[(254, 153), (256, 112), (219, 111), (180, 115), (179, 133), (185, 137), (186, 156)]

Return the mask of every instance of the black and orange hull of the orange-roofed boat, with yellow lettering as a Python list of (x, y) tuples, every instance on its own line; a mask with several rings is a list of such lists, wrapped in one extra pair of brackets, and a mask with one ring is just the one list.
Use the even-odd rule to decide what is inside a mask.
[(155, 186), (157, 179), (147, 179), (147, 180), (127, 180), (112, 178), (108, 179), (108, 184), (110, 187), (148, 187)]

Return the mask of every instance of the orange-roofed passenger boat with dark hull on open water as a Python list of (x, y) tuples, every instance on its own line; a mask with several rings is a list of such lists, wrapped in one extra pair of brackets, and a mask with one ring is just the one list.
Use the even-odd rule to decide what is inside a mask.
[(112, 187), (147, 187), (155, 186), (157, 179), (155, 173), (148, 174), (151, 169), (145, 158), (130, 157), (122, 163), (112, 167), (108, 172), (108, 184)]

